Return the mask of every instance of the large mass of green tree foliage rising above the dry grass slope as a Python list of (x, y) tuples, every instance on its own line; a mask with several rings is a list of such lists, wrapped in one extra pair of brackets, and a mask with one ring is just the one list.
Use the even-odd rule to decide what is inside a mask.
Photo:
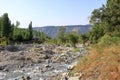
[(120, 0), (107, 0), (107, 4), (92, 12), (90, 40), (98, 42), (104, 35), (120, 37)]

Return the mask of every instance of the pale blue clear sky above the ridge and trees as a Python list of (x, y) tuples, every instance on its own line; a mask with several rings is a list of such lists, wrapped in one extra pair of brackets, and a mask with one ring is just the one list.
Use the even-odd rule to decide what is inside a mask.
[(91, 12), (106, 0), (0, 0), (0, 15), (7, 12), (20, 27), (88, 24)]

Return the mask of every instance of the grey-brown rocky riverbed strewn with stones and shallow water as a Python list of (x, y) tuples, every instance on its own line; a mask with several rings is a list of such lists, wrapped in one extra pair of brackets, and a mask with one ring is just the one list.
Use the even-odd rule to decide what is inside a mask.
[(77, 58), (87, 53), (84, 46), (57, 45), (0, 47), (0, 80), (67, 80)]

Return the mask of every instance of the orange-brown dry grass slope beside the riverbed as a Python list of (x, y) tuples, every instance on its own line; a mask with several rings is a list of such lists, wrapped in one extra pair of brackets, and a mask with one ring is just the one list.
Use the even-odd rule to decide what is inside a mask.
[(83, 80), (120, 80), (120, 46), (106, 47), (102, 52), (92, 49), (72, 71), (81, 72)]

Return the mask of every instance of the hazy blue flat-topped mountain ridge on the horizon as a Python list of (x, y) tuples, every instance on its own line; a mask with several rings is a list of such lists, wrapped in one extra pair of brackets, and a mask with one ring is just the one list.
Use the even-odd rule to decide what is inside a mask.
[[(59, 27), (61, 26), (44, 26), (44, 27), (33, 27), (33, 30), (40, 31), (47, 34), (50, 37), (56, 37)], [(65, 32), (71, 32), (72, 30), (77, 30), (79, 34), (86, 33), (90, 31), (92, 25), (68, 25), (62, 26), (65, 27)]]

